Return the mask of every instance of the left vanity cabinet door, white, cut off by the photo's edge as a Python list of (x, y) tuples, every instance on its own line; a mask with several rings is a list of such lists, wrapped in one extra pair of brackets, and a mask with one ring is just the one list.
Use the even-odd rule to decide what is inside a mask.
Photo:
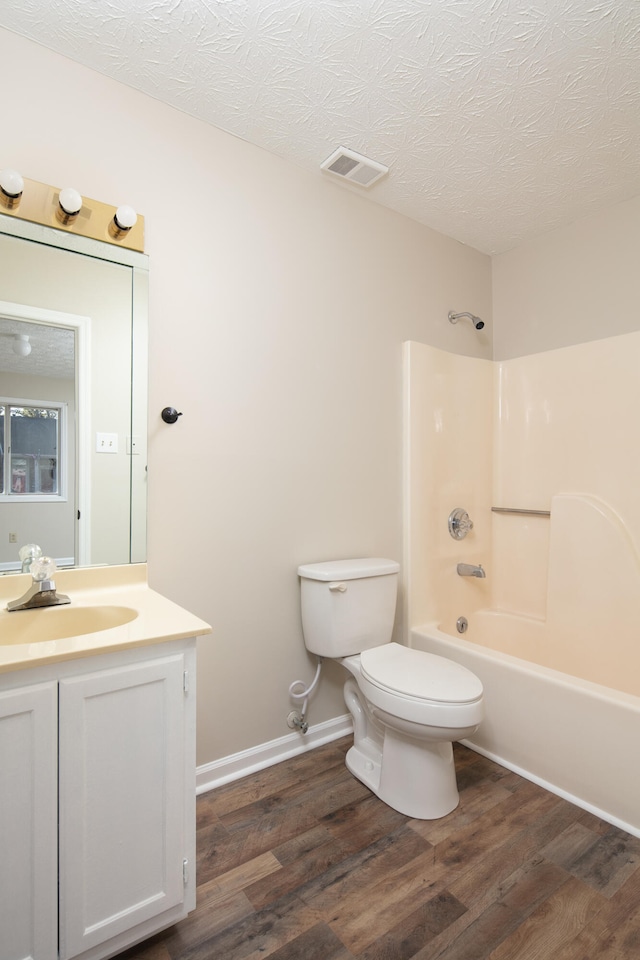
[(58, 955), (57, 705), (56, 683), (0, 693), (0, 960)]

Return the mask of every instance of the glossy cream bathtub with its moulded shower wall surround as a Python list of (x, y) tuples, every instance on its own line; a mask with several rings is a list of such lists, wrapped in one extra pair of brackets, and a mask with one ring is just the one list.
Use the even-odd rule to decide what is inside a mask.
[(408, 343), (404, 370), (411, 643), (483, 680), (472, 746), (636, 833), (639, 362), (631, 333), (501, 362)]

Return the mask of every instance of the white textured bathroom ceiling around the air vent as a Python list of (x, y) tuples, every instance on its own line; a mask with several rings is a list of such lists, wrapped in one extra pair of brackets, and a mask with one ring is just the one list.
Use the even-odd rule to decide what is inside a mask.
[(0, 25), (311, 170), (378, 160), (343, 188), (487, 253), (640, 194), (640, 0), (0, 0)]

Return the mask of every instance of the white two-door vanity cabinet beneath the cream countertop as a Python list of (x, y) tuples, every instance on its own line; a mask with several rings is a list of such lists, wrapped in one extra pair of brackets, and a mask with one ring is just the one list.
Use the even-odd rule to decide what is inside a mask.
[(193, 909), (194, 690), (193, 639), (0, 675), (0, 960), (99, 960)]

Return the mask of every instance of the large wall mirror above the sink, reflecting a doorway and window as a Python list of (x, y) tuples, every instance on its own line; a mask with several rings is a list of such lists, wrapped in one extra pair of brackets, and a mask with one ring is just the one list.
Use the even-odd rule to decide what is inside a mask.
[(146, 559), (148, 268), (0, 215), (0, 572)]

